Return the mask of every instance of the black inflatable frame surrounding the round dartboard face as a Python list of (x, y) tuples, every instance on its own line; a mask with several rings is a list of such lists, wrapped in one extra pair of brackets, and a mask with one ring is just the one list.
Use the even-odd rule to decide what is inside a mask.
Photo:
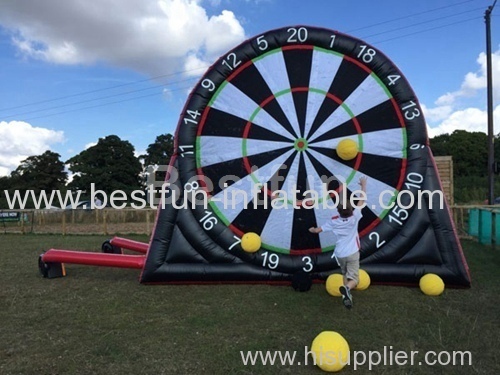
[[(217, 88), (235, 76), (233, 69), (228, 69), (225, 64), (231, 57), (244, 56), (242, 64), (245, 64), (262, 54), (259, 46), (263, 40), (266, 40), (269, 50), (285, 45), (297, 45), (300, 44), (298, 39), (301, 32), (307, 35), (305, 44), (319, 48), (330, 48), (331, 37), (335, 35), (336, 51), (345, 54), (350, 60), (360, 60), (360, 46), (365, 46), (365, 50), (373, 48), (338, 32), (297, 26), (265, 33), (221, 57), (200, 79), (179, 120), (175, 137), (177, 154), (172, 163), (176, 171), (179, 171), (179, 178), (175, 181), (167, 179), (178, 191), (182, 193), (184, 184), (198, 178), (200, 174), (195, 158), (181, 155), (179, 145), (195, 147), (199, 129), (186, 126), (185, 119), (189, 118), (188, 111), (198, 111), (206, 116), (207, 106), (212, 99), (212, 93), (207, 90), (209, 85), (206, 83), (212, 82)], [(292, 35), (297, 38), (294, 42), (289, 42)], [(304, 45), (300, 48), (304, 48)], [(401, 72), (382, 53), (377, 51), (376, 56), (365, 65), (379, 77), (401, 77), (397, 85), (390, 87), (391, 94), (400, 107), (407, 103), (418, 103)], [(428, 148), (423, 116), (405, 118), (404, 121), (408, 137), (406, 176), (420, 173), (425, 176), (422, 190), (441, 190), (436, 166)], [(221, 170), (220, 173), (224, 171)], [(412, 189), (410, 184), (409, 190)], [(413, 193), (417, 193), (417, 189)], [(182, 195), (178, 199), (183, 199)], [(433, 208), (429, 208), (430, 202), (422, 202), (422, 209), (412, 210), (402, 228), (391, 224), (387, 220), (388, 215), (378, 223), (375, 239), (383, 238), (386, 242), (383, 247), (378, 248), (370, 234), (361, 238), (362, 267), (373, 281), (416, 284), (424, 274), (436, 273), (447, 285), (470, 285), (467, 264), (449, 209), (436, 209), (439, 202), (434, 196), (432, 199)], [(228, 251), (229, 246), (234, 243), (234, 230), (219, 222), (207, 233), (200, 225), (200, 219), (205, 212), (204, 208), (198, 206), (194, 210), (176, 210), (167, 206), (159, 211), (141, 275), (142, 282), (281, 282), (289, 281), (294, 274), (301, 271), (303, 262), (300, 256), (280, 255), (278, 269), (272, 270), (262, 267), (260, 253), (248, 254), (240, 246)], [(311, 256), (314, 258), (314, 279), (324, 280), (337, 270), (329, 253)]]

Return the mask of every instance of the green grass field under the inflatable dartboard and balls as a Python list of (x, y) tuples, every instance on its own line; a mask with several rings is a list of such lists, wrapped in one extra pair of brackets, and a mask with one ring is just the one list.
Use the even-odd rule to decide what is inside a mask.
[[(147, 241), (146, 237), (131, 237)], [(346, 310), (322, 284), (144, 286), (139, 271), (68, 265), (43, 279), (51, 247), (98, 250), (104, 236), (0, 235), (0, 374), (322, 374), (304, 365), (322, 331), (351, 351), (470, 351), (472, 366), (379, 365), (375, 374), (500, 373), (500, 250), (464, 242), (471, 289), (440, 297), (373, 285)], [(240, 351), (296, 351), (301, 365), (245, 366)], [(442, 357), (445, 359), (445, 357)], [(354, 371), (346, 366), (342, 374)]]

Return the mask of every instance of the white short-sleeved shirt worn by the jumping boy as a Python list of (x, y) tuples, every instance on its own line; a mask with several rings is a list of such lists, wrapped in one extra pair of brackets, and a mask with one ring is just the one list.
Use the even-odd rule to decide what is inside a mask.
[(355, 208), (352, 216), (342, 218), (335, 215), (331, 220), (321, 226), (324, 232), (333, 232), (337, 237), (335, 244), (335, 256), (345, 258), (359, 251), (358, 224), (363, 214), (359, 208)]

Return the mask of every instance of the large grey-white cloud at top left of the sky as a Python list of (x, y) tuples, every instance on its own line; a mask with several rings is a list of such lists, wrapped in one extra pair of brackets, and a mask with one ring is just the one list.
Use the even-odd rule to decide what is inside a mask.
[(56, 64), (104, 61), (155, 76), (183, 69), (190, 54), (213, 61), (245, 39), (233, 12), (209, 17), (200, 3), (16, 0), (3, 2), (0, 25), (26, 57)]

